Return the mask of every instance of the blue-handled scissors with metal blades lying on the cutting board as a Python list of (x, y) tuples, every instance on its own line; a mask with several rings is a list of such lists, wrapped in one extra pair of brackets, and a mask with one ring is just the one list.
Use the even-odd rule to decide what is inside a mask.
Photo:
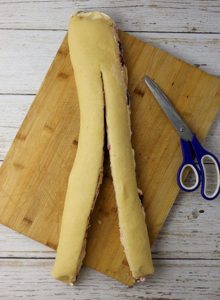
[[(177, 113), (173, 105), (170, 103), (170, 101), (167, 99), (167, 97), (163, 94), (163, 92), (148, 76), (145, 76), (145, 82), (148, 85), (151, 92), (153, 93), (154, 97), (157, 99), (160, 106), (162, 107), (164, 113), (170, 119), (170, 122), (173, 124), (173, 127), (180, 135), (183, 161), (177, 173), (177, 183), (179, 187), (186, 192), (192, 192), (198, 189), (202, 181), (202, 186), (201, 186), (202, 197), (206, 200), (215, 199), (220, 193), (220, 188), (219, 188), (220, 163), (218, 159), (215, 157), (215, 155), (206, 151), (201, 146), (195, 134), (191, 133), (191, 131), (189, 130), (187, 125), (183, 122), (183, 120), (180, 118), (179, 114)], [(197, 158), (200, 170), (198, 169), (197, 165), (194, 162), (193, 155), (192, 155), (193, 152)], [(217, 171), (217, 187), (212, 195), (208, 195), (206, 193), (207, 179), (206, 179), (204, 158), (210, 158), (214, 162)], [(186, 167), (191, 167), (196, 176), (196, 182), (191, 187), (186, 187), (182, 180), (182, 174)]]

